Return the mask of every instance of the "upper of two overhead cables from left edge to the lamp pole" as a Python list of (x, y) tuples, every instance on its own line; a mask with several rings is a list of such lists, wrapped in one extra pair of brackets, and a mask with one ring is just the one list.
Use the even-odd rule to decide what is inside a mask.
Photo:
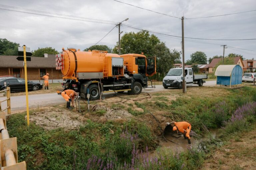
[(38, 10), (33, 10), (33, 9), (15, 7), (15, 6), (8, 6), (8, 5), (1, 5), (1, 4), (0, 4), (0, 6), (5, 7), (5, 8), (13, 8), (13, 9), (32, 11), (32, 12), (39, 12), (39, 13), (45, 13), (45, 14), (54, 14), (54, 15), (65, 16), (65, 17), (80, 18), (80, 19), (94, 20), (94, 21), (102, 21), (102, 22), (109, 22), (109, 23), (114, 23), (114, 24), (117, 23), (117, 22), (114, 22), (114, 21), (99, 20), (99, 19), (93, 19), (93, 18), (85, 18), (85, 17), (73, 16), (73, 15), (65, 15), (65, 14), (58, 14), (58, 13), (52, 13), (52, 12), (46, 12), (46, 11), (38, 11)]

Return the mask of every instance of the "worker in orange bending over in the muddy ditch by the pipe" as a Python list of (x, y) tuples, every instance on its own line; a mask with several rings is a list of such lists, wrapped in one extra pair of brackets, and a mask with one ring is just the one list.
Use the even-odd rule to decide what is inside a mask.
[(177, 129), (184, 135), (185, 139), (188, 139), (188, 144), (191, 144), (189, 132), (191, 130), (191, 125), (187, 122), (171, 122), (166, 123), (167, 125), (170, 125), (173, 127), (172, 130), (176, 131)]

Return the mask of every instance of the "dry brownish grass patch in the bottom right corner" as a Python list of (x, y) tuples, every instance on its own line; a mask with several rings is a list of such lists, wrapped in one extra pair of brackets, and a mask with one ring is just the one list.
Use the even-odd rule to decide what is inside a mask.
[(205, 161), (202, 170), (252, 170), (256, 169), (256, 129), (231, 139)]

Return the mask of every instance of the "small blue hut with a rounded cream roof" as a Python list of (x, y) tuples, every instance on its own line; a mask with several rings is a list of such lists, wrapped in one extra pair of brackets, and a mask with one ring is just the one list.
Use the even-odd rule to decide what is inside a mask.
[(243, 69), (240, 65), (219, 65), (215, 71), (217, 76), (217, 85), (226, 85), (231, 88), (232, 85), (242, 84)]

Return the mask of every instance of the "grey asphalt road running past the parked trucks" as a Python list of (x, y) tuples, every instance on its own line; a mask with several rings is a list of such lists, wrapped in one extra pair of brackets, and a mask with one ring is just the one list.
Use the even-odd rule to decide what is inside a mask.
[[(214, 86), (216, 81), (206, 81), (203, 86)], [(198, 86), (194, 84), (193, 86)], [(163, 90), (171, 90), (170, 88), (164, 89), (162, 85), (156, 85), (156, 88), (147, 88), (142, 90), (142, 92), (157, 92)], [(114, 93), (104, 94), (106, 97), (115, 96)], [(0, 100), (4, 100), (6, 97), (0, 97)], [(43, 106), (51, 106), (57, 104), (65, 104), (66, 101), (62, 98), (61, 95), (57, 93), (47, 93), (47, 94), (37, 94), (28, 96), (29, 108), (40, 108)], [(2, 109), (6, 108), (6, 102), (1, 104)], [(11, 97), (11, 111), (23, 110), (26, 109), (26, 96), (13, 96)]]

